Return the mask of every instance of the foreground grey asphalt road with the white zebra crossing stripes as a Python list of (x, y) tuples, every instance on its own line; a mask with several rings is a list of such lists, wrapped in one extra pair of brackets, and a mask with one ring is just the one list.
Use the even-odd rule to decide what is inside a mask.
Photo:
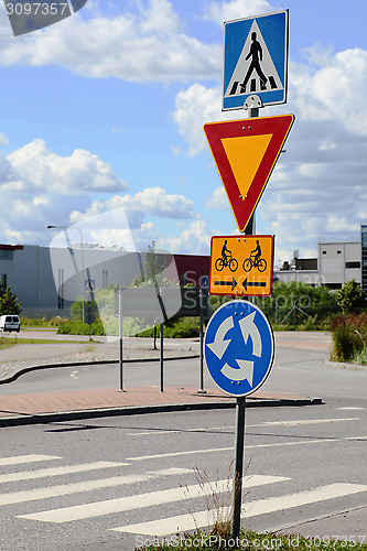
[[(248, 410), (242, 526), (361, 541), (366, 418), (366, 407), (356, 401)], [(132, 551), (154, 534), (192, 529), (193, 516), (198, 526), (203, 518), (213, 522), (206, 511), (206, 505), (215, 509), (211, 495), (225, 504), (231, 496), (233, 410), (1, 433), (1, 550)], [(197, 488), (206, 478), (207, 504)], [(313, 522), (320, 518), (327, 520), (322, 532)]]

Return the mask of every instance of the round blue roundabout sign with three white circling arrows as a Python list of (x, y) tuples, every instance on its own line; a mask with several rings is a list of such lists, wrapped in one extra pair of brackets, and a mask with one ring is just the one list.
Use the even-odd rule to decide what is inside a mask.
[(251, 302), (226, 302), (211, 317), (204, 357), (212, 379), (227, 395), (247, 396), (261, 387), (273, 355), (272, 329)]

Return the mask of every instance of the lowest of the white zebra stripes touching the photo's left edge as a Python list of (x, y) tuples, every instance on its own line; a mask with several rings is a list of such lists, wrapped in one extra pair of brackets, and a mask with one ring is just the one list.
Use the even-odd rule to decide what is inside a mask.
[(80, 483), (63, 484), (60, 486), (51, 486), (46, 488), (35, 488), (24, 491), (13, 491), (12, 494), (0, 495), (0, 506), (10, 504), (21, 504), (23, 501), (33, 501), (36, 499), (46, 499), (50, 497), (67, 496), (71, 494), (79, 494), (82, 491), (91, 491), (94, 489), (110, 488), (121, 486), (123, 484), (136, 484), (147, 482), (151, 478), (168, 476), (170, 474), (177, 475), (179, 473), (191, 473), (190, 469), (164, 469), (151, 472), (142, 475), (122, 475), (112, 476), (110, 478), (100, 478), (97, 480), (85, 480)]

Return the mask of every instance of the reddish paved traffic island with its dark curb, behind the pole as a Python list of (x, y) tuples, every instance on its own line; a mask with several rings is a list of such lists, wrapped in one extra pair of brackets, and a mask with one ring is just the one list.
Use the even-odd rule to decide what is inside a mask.
[[(320, 398), (285, 393), (255, 392), (247, 407), (309, 406)], [(235, 408), (236, 399), (218, 391), (201, 393), (194, 388), (156, 387), (72, 390), (31, 395), (0, 395), (0, 426), (47, 423), (73, 419), (158, 413), (198, 409)]]

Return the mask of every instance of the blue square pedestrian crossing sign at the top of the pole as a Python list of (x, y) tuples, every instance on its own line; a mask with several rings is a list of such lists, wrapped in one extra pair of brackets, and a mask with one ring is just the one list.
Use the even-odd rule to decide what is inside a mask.
[(287, 102), (288, 10), (225, 23), (223, 110)]

